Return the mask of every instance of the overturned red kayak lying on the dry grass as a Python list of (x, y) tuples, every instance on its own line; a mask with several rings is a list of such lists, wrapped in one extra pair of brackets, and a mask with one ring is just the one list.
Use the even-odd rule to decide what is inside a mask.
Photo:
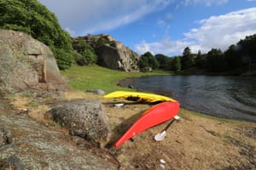
[(126, 140), (131, 139), (138, 133), (162, 122), (171, 120), (174, 116), (177, 116), (178, 111), (179, 103), (177, 101), (163, 102), (152, 106), (145, 111), (140, 118), (138, 118), (137, 122), (135, 122), (121, 138), (116, 141), (114, 146), (118, 147), (120, 144), (123, 144)]

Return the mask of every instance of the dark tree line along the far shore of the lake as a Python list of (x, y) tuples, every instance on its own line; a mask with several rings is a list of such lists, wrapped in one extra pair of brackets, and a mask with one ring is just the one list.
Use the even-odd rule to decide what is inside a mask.
[(180, 56), (168, 57), (164, 54), (143, 54), (139, 60), (141, 71), (162, 69), (166, 71), (201, 71), (203, 73), (241, 74), (256, 70), (256, 34), (247, 36), (224, 52), (212, 48), (207, 54), (192, 54), (189, 47), (184, 48)]

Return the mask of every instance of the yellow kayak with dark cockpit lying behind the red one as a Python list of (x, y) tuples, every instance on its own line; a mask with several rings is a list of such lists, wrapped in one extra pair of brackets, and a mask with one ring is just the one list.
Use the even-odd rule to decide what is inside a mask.
[(148, 94), (142, 92), (129, 92), (129, 91), (115, 91), (110, 94), (106, 94), (104, 98), (113, 99), (127, 99), (130, 101), (137, 101), (141, 103), (160, 103), (164, 101), (176, 102), (175, 99), (168, 98), (159, 94)]

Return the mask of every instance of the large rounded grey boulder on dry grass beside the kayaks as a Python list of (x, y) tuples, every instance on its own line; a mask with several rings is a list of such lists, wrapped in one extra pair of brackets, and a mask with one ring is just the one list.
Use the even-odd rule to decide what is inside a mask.
[(101, 102), (76, 99), (53, 105), (49, 113), (71, 135), (79, 136), (100, 147), (108, 143), (111, 132)]

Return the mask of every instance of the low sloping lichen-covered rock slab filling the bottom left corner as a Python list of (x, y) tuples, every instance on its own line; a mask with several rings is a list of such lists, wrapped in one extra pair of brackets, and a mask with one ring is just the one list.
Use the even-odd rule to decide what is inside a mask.
[(9, 131), (12, 139), (0, 145), (0, 169), (118, 169), (107, 152), (80, 147), (67, 135), (32, 119), (0, 114), (0, 120), (0, 135), (6, 139), (3, 131)]

